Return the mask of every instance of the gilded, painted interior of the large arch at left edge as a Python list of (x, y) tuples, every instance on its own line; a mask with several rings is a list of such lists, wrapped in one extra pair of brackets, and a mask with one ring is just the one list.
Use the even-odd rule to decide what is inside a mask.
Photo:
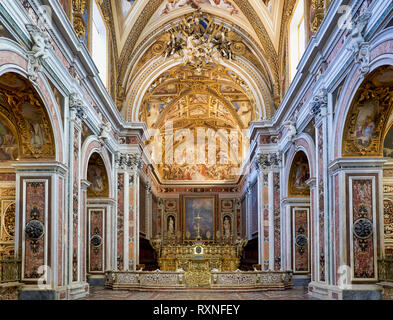
[(42, 101), (30, 83), (13, 73), (0, 77), (0, 126), (1, 160), (54, 158), (52, 127)]

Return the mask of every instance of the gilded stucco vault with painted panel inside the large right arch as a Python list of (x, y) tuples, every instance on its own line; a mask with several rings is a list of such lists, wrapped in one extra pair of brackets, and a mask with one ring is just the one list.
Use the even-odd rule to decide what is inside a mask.
[(393, 68), (367, 77), (349, 110), (344, 129), (344, 156), (382, 156), (385, 128), (393, 107)]

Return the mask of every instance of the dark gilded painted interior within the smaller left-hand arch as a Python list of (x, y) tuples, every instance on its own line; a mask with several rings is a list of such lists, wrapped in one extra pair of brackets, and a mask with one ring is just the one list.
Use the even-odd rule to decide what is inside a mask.
[(87, 189), (89, 197), (107, 197), (109, 195), (105, 164), (98, 153), (94, 153), (89, 160), (87, 180), (91, 183)]

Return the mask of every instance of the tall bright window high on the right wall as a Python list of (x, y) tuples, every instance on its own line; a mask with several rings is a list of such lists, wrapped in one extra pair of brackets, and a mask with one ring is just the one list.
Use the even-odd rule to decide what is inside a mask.
[(306, 26), (304, 22), (304, 1), (298, 0), (289, 26), (289, 61), (291, 81), (296, 75), (297, 66), (306, 49)]

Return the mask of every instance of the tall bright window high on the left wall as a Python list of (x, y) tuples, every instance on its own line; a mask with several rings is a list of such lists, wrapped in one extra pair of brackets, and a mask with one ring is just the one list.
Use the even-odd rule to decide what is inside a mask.
[(107, 31), (102, 18), (100, 8), (96, 1), (93, 3), (93, 17), (92, 17), (92, 57), (98, 68), (100, 78), (107, 86), (108, 79), (108, 42), (107, 42)]

